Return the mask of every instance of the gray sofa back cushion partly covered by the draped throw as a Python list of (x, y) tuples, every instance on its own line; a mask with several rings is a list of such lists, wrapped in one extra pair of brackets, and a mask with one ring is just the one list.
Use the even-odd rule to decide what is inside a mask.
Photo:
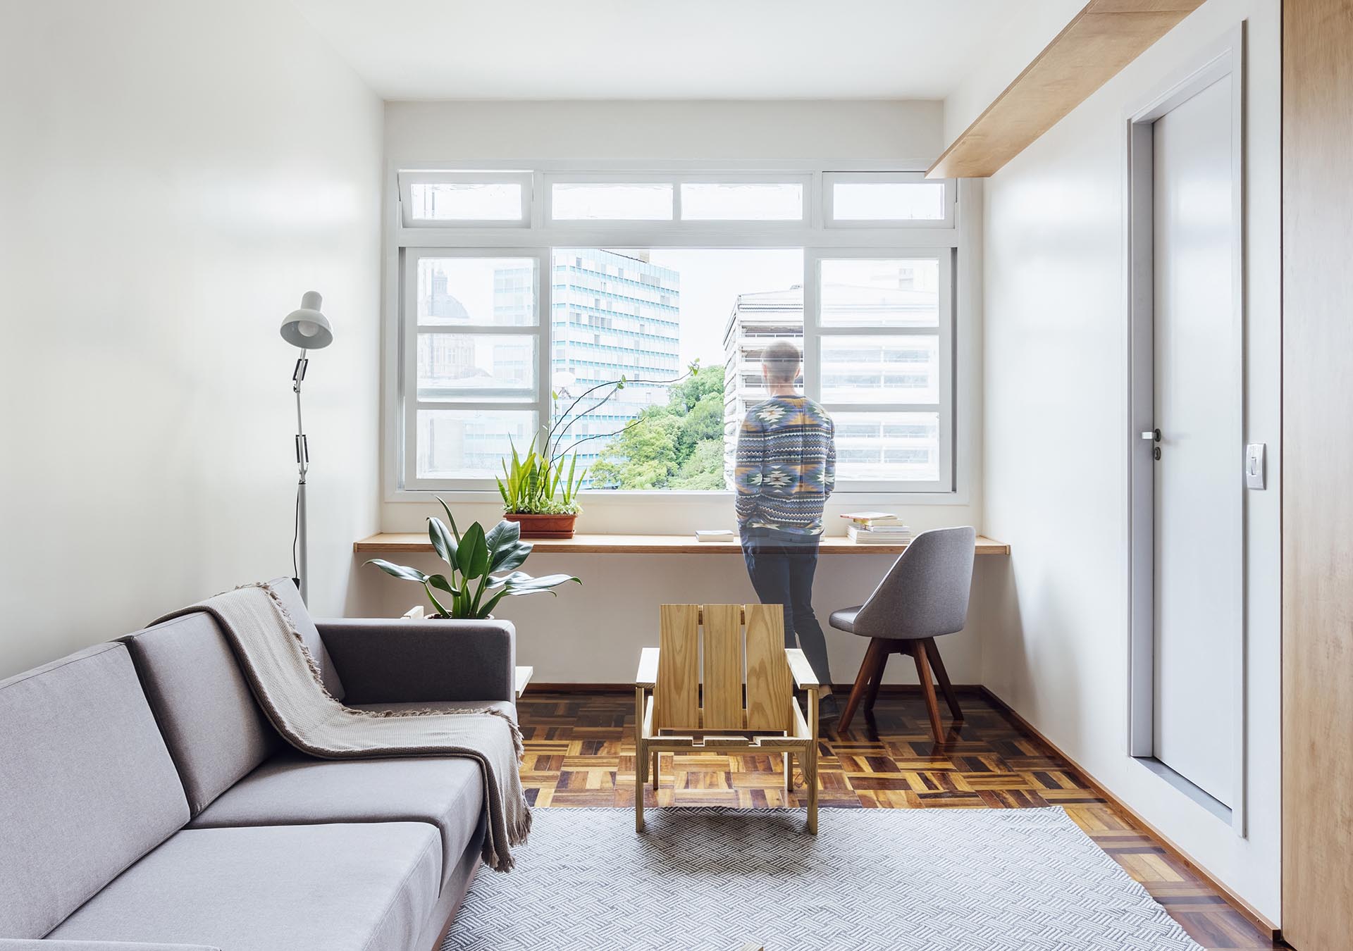
[(123, 640), (193, 814), (283, 744), (210, 614), (184, 614)]

